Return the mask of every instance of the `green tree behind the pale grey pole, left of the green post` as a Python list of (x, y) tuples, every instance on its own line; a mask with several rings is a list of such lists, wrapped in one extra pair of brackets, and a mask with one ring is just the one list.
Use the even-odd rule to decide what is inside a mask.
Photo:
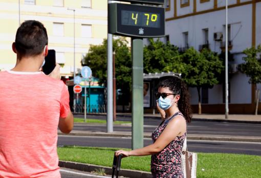
[[(132, 61), (130, 49), (125, 38), (113, 40), (113, 52), (115, 52), (115, 75), (116, 87), (123, 93), (129, 95), (132, 72)], [(106, 86), (107, 81), (107, 40), (104, 39), (101, 45), (91, 45), (89, 53), (84, 57), (84, 63), (93, 72), (93, 76), (99, 79), (99, 84)]]

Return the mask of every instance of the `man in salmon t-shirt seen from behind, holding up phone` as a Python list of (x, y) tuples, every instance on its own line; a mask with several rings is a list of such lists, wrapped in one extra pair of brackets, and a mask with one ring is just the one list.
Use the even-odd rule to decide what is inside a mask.
[(22, 23), (12, 49), (15, 67), (0, 72), (0, 177), (59, 178), (57, 127), (70, 133), (73, 115), (59, 66), (39, 71), (48, 54), (43, 24)]

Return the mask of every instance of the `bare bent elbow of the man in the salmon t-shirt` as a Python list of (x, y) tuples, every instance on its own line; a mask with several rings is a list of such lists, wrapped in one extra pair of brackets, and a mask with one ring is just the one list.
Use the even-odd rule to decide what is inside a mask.
[(73, 130), (73, 114), (69, 111), (66, 118), (60, 118), (58, 128), (64, 134), (69, 134)]

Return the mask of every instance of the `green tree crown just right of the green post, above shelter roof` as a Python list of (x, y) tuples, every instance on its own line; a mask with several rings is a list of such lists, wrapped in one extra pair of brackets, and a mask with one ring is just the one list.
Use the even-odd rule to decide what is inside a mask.
[(166, 44), (159, 39), (154, 41), (149, 39), (149, 45), (144, 47), (144, 73), (155, 73), (176, 70), (175, 65), (180, 62), (178, 47), (167, 42)]

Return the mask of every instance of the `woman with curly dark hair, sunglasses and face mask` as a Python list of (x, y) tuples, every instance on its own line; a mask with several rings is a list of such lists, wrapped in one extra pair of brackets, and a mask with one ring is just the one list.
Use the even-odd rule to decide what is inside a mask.
[(153, 144), (131, 151), (117, 150), (115, 155), (151, 155), (153, 177), (183, 178), (181, 151), (192, 117), (187, 86), (178, 77), (165, 77), (158, 85), (156, 99), (163, 121), (151, 135)]

